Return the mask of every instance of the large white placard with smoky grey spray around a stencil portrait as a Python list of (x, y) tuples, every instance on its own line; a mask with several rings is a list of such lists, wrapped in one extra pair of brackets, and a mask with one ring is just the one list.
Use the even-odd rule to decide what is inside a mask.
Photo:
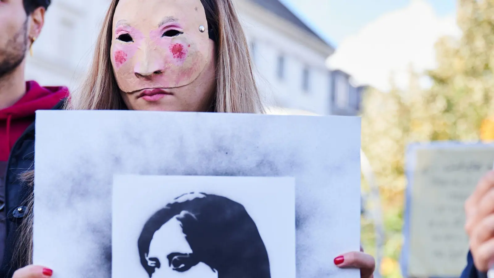
[[(54, 278), (149, 278), (170, 267), (180, 269), (182, 272), (175, 272), (180, 273), (181, 277), (198, 277), (193, 272), (185, 271), (188, 267), (192, 270), (192, 266), (194, 270), (209, 269), (213, 277), (214, 274), (228, 273), (224, 271), (224, 265), (203, 262), (205, 258), (216, 258), (219, 255), (209, 255), (207, 250), (211, 246), (201, 245), (205, 234), (191, 234), (191, 231), (204, 230), (198, 226), (204, 224), (205, 219), (198, 217), (197, 207), (172, 206), (174, 210), (184, 211), (183, 215), (178, 213), (177, 216), (166, 209), (160, 212), (158, 207), (141, 206), (143, 203), (139, 198), (143, 194), (149, 196), (150, 205), (151, 200), (158, 197), (151, 190), (152, 186), (158, 186), (154, 182), (133, 183), (127, 187), (126, 197), (116, 201), (112, 188), (114, 176), (119, 175), (136, 175), (140, 176), (139, 179), (148, 179), (145, 176), (197, 176), (198, 182), (204, 179), (205, 184), (210, 179), (207, 177), (292, 178), (295, 182), (296, 277), (360, 277), (359, 270), (338, 269), (333, 263), (336, 256), (360, 248), (359, 117), (109, 110), (37, 111), (35, 149), (33, 260), (35, 264), (53, 269)], [(244, 183), (240, 178), (239, 182), (230, 186)], [(259, 181), (259, 184), (264, 183)], [(270, 253), (279, 254), (282, 250), (278, 250), (272, 237), (266, 235), (266, 217), (259, 218), (257, 209), (267, 210), (273, 203), (257, 200), (265, 195), (263, 198), (271, 202), (276, 198), (289, 202), (289, 194), (280, 193), (275, 197), (269, 195), (277, 183), (280, 182), (273, 181), (272, 187), (252, 185), (231, 189), (250, 188), (251, 192), (246, 193), (246, 197), (234, 194), (234, 191), (228, 191), (229, 195), (226, 195), (226, 189), (223, 196), (223, 191), (208, 192), (207, 188), (203, 188), (203, 192), (195, 192), (195, 188), (187, 188), (190, 192), (182, 192), (181, 188), (175, 188), (175, 195), (205, 194), (203, 198), (196, 198), (197, 201), (221, 199), (230, 205), (238, 204), (246, 208), (244, 215), (251, 221), (248, 221), (250, 224), (245, 229), (253, 232), (254, 227), (257, 229), (257, 243), (264, 244), (270, 259), (270, 256), (274, 256)], [(182, 185), (163, 186), (174, 188)], [(160, 198), (160, 202), (163, 202), (160, 205), (171, 206), (174, 198), (191, 196), (166, 196)], [(247, 196), (251, 198), (247, 200)], [(179, 204), (192, 204), (180, 200)], [(125, 203), (127, 211), (134, 211), (126, 215), (128, 221), (136, 223), (135, 227), (132, 225), (133, 230), (112, 227), (113, 216), (123, 216), (121, 212), (112, 209), (112, 201), (122, 206)], [(258, 204), (259, 208), (252, 209), (252, 204)], [(149, 209), (149, 212), (136, 216), (135, 213), (141, 209)], [(152, 210), (157, 213), (155, 218)], [(279, 213), (285, 216), (288, 212)], [(194, 220), (194, 217), (198, 220)], [(158, 245), (165, 245), (168, 240), (163, 231), (173, 227), (182, 228), (182, 231), (175, 229), (175, 232), (186, 234), (187, 244), (182, 238), (183, 245), (176, 248), (183, 247), (181, 251), (163, 254), (158, 250), (159, 254), (156, 255), (155, 245), (160, 240), (163, 244)], [(112, 233), (135, 237), (136, 231), (143, 233), (142, 236), (139, 233), (138, 242), (129, 247), (132, 251), (126, 251), (132, 254), (112, 252)], [(279, 240), (288, 238), (293, 232), (276, 231)], [(127, 232), (132, 234), (123, 234)], [(155, 237), (158, 241), (154, 240)], [(227, 234), (222, 234), (222, 237), (226, 240)], [(194, 238), (199, 241), (194, 241)], [(214, 243), (213, 239), (206, 243)], [(218, 247), (217, 244), (212, 246)], [(255, 244), (252, 243), (252, 246)], [(235, 250), (223, 251), (232, 252), (232, 258), (238, 255)], [(127, 266), (127, 263), (115, 266), (121, 261), (116, 259), (114, 262), (113, 257), (121, 258), (121, 255), (139, 261), (133, 262), (131, 266)], [(253, 258), (261, 260), (262, 256)], [(115, 271), (123, 274), (117, 276), (112, 265), (119, 268)], [(274, 278), (277, 270), (270, 270)], [(112, 276), (112, 272), (115, 275)], [(256, 273), (240, 272), (222, 277), (260, 277)], [(205, 276), (201, 274), (199, 277)]]

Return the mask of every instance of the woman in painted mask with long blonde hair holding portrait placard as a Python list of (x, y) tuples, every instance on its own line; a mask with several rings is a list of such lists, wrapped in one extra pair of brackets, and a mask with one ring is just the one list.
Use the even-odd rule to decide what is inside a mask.
[[(232, 0), (112, 0), (88, 76), (66, 109), (263, 113), (247, 49)], [(19, 217), (10, 211), (6, 253), (13, 255), (0, 275), (50, 277), (49, 268), (29, 265), (33, 188), (6, 190), (19, 196), (9, 210), (26, 209)], [(374, 270), (373, 258), (362, 252), (334, 263), (360, 268), (363, 278)]]

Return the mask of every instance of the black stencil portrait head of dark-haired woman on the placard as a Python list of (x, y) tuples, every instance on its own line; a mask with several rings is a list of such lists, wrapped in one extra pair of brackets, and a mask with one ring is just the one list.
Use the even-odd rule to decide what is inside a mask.
[(256, 224), (243, 205), (223, 196), (175, 198), (147, 220), (137, 244), (150, 278), (271, 277)]

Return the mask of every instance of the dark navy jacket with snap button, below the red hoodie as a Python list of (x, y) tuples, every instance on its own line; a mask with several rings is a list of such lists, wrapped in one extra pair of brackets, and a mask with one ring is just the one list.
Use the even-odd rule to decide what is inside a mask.
[[(53, 109), (62, 109), (64, 101), (60, 101)], [(22, 183), (20, 175), (34, 170), (34, 139), (35, 123), (33, 122), (17, 139), (7, 162), (5, 176), (5, 209), (7, 211), (7, 238), (5, 253), (0, 266), (0, 277), (11, 278), (14, 271), (23, 267), (17, 260), (12, 260), (18, 226), (27, 214), (26, 199), (33, 193), (33, 187)]]

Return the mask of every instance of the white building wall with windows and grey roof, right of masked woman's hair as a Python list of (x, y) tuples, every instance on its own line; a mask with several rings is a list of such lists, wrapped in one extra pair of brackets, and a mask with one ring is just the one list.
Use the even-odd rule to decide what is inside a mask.
[(326, 58), (333, 47), (278, 0), (237, 0), (268, 106), (331, 114)]

